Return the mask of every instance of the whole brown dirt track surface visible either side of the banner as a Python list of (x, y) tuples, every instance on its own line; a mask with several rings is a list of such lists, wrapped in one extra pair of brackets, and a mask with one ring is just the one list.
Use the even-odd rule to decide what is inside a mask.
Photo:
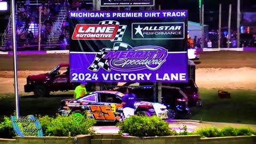
[[(256, 52), (204, 52), (200, 62), (196, 65), (199, 87), (256, 89)], [(19, 93), (24, 93), (28, 75), (46, 73), (59, 63), (68, 63), (68, 55), (18, 55)], [(0, 93), (14, 93), (12, 55), (0, 55), (0, 70)]]

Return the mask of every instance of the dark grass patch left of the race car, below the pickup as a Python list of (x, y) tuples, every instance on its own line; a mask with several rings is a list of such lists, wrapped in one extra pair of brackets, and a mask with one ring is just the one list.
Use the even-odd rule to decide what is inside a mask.
[[(72, 99), (73, 91), (51, 93), (48, 98), (36, 98), (34, 95), (20, 95), (20, 116), (49, 115), (55, 116), (60, 108), (60, 101)], [(0, 95), (0, 116), (10, 116), (15, 110), (15, 95)]]

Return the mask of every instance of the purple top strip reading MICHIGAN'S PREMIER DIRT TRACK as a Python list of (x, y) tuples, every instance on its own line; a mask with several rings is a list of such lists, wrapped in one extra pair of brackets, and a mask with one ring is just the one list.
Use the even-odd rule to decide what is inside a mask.
[(166, 10), (166, 11), (70, 11), (70, 18), (76, 19), (134, 19), (134, 18), (186, 18), (186, 10)]

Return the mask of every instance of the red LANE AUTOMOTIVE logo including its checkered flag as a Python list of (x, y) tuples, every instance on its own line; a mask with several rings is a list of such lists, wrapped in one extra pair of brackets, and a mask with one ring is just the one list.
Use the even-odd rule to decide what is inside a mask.
[(113, 20), (99, 24), (78, 24), (72, 39), (122, 41), (126, 27)]

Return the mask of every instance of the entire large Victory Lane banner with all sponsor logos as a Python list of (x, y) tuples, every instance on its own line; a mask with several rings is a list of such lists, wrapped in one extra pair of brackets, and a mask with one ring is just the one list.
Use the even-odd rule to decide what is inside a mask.
[(186, 10), (69, 16), (71, 82), (188, 81)]

